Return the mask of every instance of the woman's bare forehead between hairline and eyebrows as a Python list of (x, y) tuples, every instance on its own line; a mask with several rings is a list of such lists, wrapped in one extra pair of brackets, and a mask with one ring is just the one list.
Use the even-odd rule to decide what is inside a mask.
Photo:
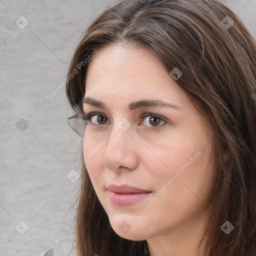
[[(106, 46), (88, 63), (85, 97), (111, 97), (127, 102), (141, 98), (169, 101), (185, 99), (159, 59), (145, 48)], [(177, 103), (177, 102), (176, 102)]]

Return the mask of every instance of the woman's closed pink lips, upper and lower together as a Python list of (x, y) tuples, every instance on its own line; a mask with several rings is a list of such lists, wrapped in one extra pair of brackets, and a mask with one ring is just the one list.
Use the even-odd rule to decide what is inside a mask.
[(106, 187), (110, 200), (118, 206), (126, 206), (143, 199), (152, 191), (140, 189), (126, 184), (117, 186), (110, 184)]

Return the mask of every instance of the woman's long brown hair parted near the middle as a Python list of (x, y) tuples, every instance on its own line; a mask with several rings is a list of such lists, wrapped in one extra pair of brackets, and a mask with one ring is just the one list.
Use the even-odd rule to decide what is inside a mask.
[[(228, 16), (228, 17), (227, 17)], [(256, 255), (256, 43), (241, 20), (217, 0), (123, 0), (103, 11), (85, 31), (70, 63), (81, 70), (66, 84), (68, 102), (82, 112), (86, 56), (123, 43), (149, 49), (167, 72), (182, 71), (177, 84), (196, 102), (216, 136), (217, 180), (205, 232), (207, 256)], [(76, 214), (78, 256), (137, 256), (145, 240), (118, 236), (110, 226), (82, 157)], [(225, 234), (221, 225), (234, 229)]]

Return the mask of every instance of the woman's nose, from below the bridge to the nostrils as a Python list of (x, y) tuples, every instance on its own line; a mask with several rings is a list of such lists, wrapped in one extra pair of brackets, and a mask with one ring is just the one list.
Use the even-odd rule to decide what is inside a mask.
[(116, 124), (107, 143), (103, 164), (112, 171), (134, 169), (138, 161), (137, 143), (131, 127), (123, 131)]

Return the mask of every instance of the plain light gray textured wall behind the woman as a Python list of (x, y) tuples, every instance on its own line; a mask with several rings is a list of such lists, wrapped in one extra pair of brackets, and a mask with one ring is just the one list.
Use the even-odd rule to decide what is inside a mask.
[[(256, 38), (256, 0), (222, 2)], [(87, 25), (113, 3), (0, 0), (0, 255), (36, 256), (49, 247), (75, 255), (80, 178), (67, 174), (80, 173), (82, 140), (67, 125), (65, 88), (51, 100), (46, 94), (65, 78)]]

